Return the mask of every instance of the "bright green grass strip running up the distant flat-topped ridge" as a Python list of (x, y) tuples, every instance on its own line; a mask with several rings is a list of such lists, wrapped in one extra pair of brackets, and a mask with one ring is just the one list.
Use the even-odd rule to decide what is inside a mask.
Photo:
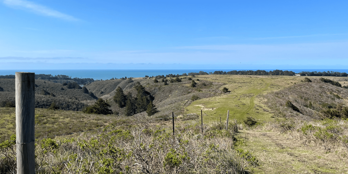
[(264, 104), (260, 94), (284, 89), (301, 82), (303, 77), (297, 76), (239, 76), (239, 75), (203, 75), (196, 78), (224, 83), (221, 86), (230, 90), (228, 95), (203, 98), (192, 102), (186, 108), (186, 114), (198, 113), (203, 110), (205, 120), (226, 121), (227, 110), (229, 118), (240, 122), (246, 117), (254, 117), (259, 121), (270, 121), (273, 113)]

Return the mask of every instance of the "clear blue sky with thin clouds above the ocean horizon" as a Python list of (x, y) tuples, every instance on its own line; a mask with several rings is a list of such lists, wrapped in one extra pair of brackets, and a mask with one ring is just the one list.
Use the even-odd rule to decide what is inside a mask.
[(0, 0), (0, 69), (347, 69), (348, 1)]

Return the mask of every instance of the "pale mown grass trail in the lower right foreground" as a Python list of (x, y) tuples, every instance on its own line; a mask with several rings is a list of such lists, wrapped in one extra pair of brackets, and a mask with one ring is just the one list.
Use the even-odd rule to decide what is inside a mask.
[(348, 160), (340, 154), (303, 144), (292, 137), (274, 132), (241, 130), (241, 148), (251, 151), (261, 166), (254, 173), (348, 173)]

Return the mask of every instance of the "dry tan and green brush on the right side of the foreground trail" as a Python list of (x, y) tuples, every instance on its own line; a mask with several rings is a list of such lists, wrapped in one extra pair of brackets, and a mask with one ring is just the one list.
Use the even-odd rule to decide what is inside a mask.
[(273, 130), (312, 145), (326, 153), (338, 153), (348, 158), (348, 121), (342, 119), (323, 119), (316, 121), (301, 121), (287, 119), (264, 124), (256, 129)]

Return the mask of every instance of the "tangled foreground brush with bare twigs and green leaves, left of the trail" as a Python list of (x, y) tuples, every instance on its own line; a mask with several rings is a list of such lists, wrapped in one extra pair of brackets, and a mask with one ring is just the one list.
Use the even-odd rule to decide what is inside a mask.
[[(36, 173), (247, 173), (258, 166), (248, 151), (234, 150), (237, 121), (202, 126), (177, 121), (171, 129), (152, 118), (135, 117), (137, 125), (110, 125), (98, 133), (37, 140)], [(15, 140), (15, 139), (14, 139)], [(0, 173), (16, 173), (15, 143), (0, 151)], [(7, 148), (7, 149), (5, 149)]]

